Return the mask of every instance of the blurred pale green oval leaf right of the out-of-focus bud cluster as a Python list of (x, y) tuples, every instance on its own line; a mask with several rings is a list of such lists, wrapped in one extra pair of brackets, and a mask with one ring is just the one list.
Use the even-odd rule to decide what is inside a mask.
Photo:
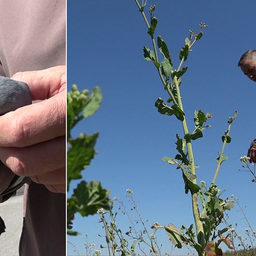
[(90, 97), (91, 97), (90, 102), (87, 104), (86, 108), (84, 108), (84, 111), (83, 111), (83, 116), (85, 118), (93, 115), (100, 107), (100, 103), (102, 102), (101, 89), (97, 86), (94, 87)]

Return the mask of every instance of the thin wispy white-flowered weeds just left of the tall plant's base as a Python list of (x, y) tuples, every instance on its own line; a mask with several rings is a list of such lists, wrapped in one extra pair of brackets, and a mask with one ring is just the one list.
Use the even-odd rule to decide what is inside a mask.
[[(119, 198), (115, 197), (111, 201), (108, 212), (103, 211), (103, 209), (99, 209), (97, 212), (100, 215), (99, 222), (102, 223), (105, 231), (104, 235), (99, 234), (99, 236), (105, 237), (107, 244), (102, 244), (101, 248), (108, 248), (109, 255), (140, 255), (136, 253), (136, 249), (139, 249), (144, 255), (160, 255), (160, 247), (157, 244), (155, 232), (149, 235), (146, 228), (147, 221), (143, 221), (131, 189), (126, 189), (126, 197), (128, 198), (128, 208), (130, 208), (130, 211), (128, 211), (122, 201), (119, 201)], [(117, 224), (119, 221), (119, 211), (114, 210), (116, 204), (119, 204), (118, 210), (121, 210), (122, 214), (126, 215), (130, 221), (129, 230), (125, 233), (122, 232)], [(130, 214), (135, 215), (132, 216)], [(145, 253), (143, 244), (149, 249), (149, 254)]]

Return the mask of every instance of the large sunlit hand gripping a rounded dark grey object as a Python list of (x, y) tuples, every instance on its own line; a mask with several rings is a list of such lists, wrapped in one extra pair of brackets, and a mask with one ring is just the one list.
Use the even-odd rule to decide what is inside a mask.
[(51, 192), (66, 192), (66, 66), (19, 72), (32, 100), (44, 100), (0, 116), (0, 160)]

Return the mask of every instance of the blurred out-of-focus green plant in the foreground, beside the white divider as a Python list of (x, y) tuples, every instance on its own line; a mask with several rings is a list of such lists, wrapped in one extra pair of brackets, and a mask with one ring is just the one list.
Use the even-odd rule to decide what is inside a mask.
[[(94, 149), (99, 133), (90, 136), (81, 133), (73, 138), (71, 130), (82, 119), (93, 115), (102, 101), (102, 92), (99, 87), (94, 87), (88, 95), (88, 90), (79, 92), (73, 84), (72, 90), (67, 93), (67, 191), (72, 180), (81, 179), (81, 171), (90, 165), (96, 154)], [(82, 180), (74, 189), (73, 195), (67, 199), (67, 234), (78, 235), (71, 230), (74, 215), (79, 212), (83, 217), (93, 215), (98, 209), (110, 209), (109, 191), (103, 189), (99, 181), (86, 182)]]

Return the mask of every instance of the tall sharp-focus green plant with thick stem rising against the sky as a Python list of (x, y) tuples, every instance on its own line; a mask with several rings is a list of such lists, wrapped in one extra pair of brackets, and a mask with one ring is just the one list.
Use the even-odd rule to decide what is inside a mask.
[[(200, 23), (200, 31), (195, 34), (193, 30), (189, 30), (189, 37), (185, 39), (185, 45), (181, 47), (179, 58), (180, 63), (177, 69), (174, 69), (172, 57), (169, 53), (169, 48), (163, 38), (159, 35), (157, 40), (154, 38), (154, 33), (157, 28), (157, 17), (154, 16), (156, 6), (150, 6), (148, 21), (144, 9), (146, 3), (142, 1), (142, 4), (135, 0), (143, 19), (145, 20), (148, 35), (151, 37), (153, 50), (149, 47), (143, 47), (144, 58), (146, 61), (153, 62), (157, 69), (160, 80), (163, 84), (164, 90), (168, 93), (166, 102), (162, 98), (158, 98), (155, 102), (157, 111), (163, 115), (176, 116), (180, 120), (183, 128), (183, 137), (176, 134), (177, 145), (176, 149), (178, 154), (175, 157), (163, 157), (163, 161), (171, 165), (176, 165), (177, 169), (182, 172), (182, 177), (185, 183), (185, 193), (190, 192), (192, 198), (192, 212), (195, 221), (195, 228), (193, 224), (190, 227), (182, 226), (180, 231), (173, 224), (168, 226), (161, 226), (155, 224), (152, 226), (154, 229), (163, 228), (166, 230), (169, 238), (176, 247), (181, 248), (183, 243), (189, 244), (198, 252), (198, 255), (222, 255), (219, 244), (224, 242), (229, 248), (231, 246), (228, 236), (223, 234), (227, 232), (227, 228), (218, 230), (218, 225), (224, 217), (224, 211), (233, 208), (233, 202), (228, 198), (223, 200), (220, 198), (221, 191), (215, 184), (216, 177), (218, 175), (221, 163), (227, 160), (228, 157), (224, 156), (224, 148), (226, 143), (231, 142), (230, 128), (233, 120), (236, 118), (237, 111), (233, 116), (228, 118), (228, 128), (222, 136), (223, 146), (221, 153), (219, 153), (216, 159), (218, 165), (213, 177), (211, 186), (207, 189), (205, 183), (197, 183), (196, 169), (199, 166), (195, 165), (195, 157), (192, 150), (192, 141), (203, 137), (203, 131), (210, 127), (205, 125), (207, 120), (212, 117), (210, 113), (204, 113), (202, 110), (196, 110), (194, 113), (195, 128), (190, 132), (185, 111), (183, 109), (183, 102), (180, 93), (180, 84), (182, 82), (181, 77), (186, 73), (188, 67), (183, 67), (184, 62), (189, 56), (189, 52), (192, 50), (194, 44), (200, 40), (203, 36), (203, 29), (207, 27), (205, 23)], [(162, 60), (158, 57), (158, 51), (162, 55)], [(198, 203), (198, 199), (201, 202), (201, 208)], [(195, 230), (195, 231), (194, 231)]]

